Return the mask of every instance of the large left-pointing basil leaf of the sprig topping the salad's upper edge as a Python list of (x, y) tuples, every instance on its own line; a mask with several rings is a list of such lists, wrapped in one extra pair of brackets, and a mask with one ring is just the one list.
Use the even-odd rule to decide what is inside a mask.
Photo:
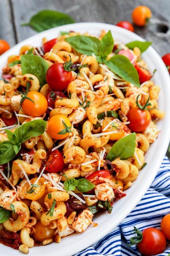
[(76, 51), (86, 55), (99, 54), (100, 40), (92, 36), (69, 36), (64, 39)]

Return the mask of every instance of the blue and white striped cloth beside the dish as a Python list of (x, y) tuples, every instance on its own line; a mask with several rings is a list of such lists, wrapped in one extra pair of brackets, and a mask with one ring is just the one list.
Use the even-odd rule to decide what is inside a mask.
[[(133, 256), (141, 255), (137, 246), (129, 247), (133, 226), (140, 230), (148, 227), (160, 229), (163, 216), (170, 212), (170, 162), (165, 156), (162, 165), (150, 188), (134, 210), (111, 233), (92, 246), (74, 256)], [(159, 256), (170, 253), (170, 242), (167, 249)]]

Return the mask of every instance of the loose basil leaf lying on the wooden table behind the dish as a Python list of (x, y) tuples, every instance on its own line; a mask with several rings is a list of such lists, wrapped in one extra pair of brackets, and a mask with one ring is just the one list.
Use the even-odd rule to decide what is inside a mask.
[(75, 21), (65, 13), (54, 10), (42, 10), (33, 15), (28, 23), (21, 25), (31, 26), (37, 32), (42, 32), (49, 28), (55, 28), (70, 23), (75, 23)]

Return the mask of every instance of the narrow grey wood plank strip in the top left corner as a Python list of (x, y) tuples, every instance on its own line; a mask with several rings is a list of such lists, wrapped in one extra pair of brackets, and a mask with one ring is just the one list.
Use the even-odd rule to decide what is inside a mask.
[(14, 29), (12, 25), (12, 15), (8, 0), (0, 0), (0, 39), (6, 40), (10, 46), (16, 44)]

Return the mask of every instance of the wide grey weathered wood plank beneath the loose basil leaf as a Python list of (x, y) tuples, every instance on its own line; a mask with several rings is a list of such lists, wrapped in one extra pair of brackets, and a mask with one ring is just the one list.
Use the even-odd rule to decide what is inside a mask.
[[(15, 26), (19, 41), (36, 34), (30, 27), (22, 27), (30, 17), (42, 9), (54, 9), (71, 15), (76, 22), (96, 21), (116, 24), (120, 20), (131, 20), (131, 12), (138, 5), (147, 5), (155, 18), (170, 22), (169, 0), (12, 0)], [(146, 40), (152, 40), (154, 48), (163, 55), (169, 51), (169, 38), (158, 37), (156, 26), (135, 27), (135, 32)]]

